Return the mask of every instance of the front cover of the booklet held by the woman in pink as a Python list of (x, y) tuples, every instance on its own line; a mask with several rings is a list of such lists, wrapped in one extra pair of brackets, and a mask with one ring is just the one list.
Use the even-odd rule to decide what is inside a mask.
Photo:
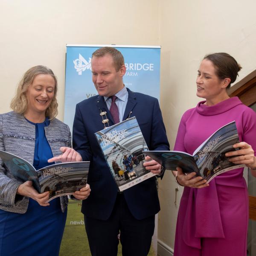
[(236, 122), (224, 125), (204, 143), (194, 154), (195, 162), (201, 176), (208, 182), (218, 174), (231, 169), (243, 167), (231, 163), (225, 154), (235, 151), (235, 143), (239, 143), (239, 136), (236, 129)]

